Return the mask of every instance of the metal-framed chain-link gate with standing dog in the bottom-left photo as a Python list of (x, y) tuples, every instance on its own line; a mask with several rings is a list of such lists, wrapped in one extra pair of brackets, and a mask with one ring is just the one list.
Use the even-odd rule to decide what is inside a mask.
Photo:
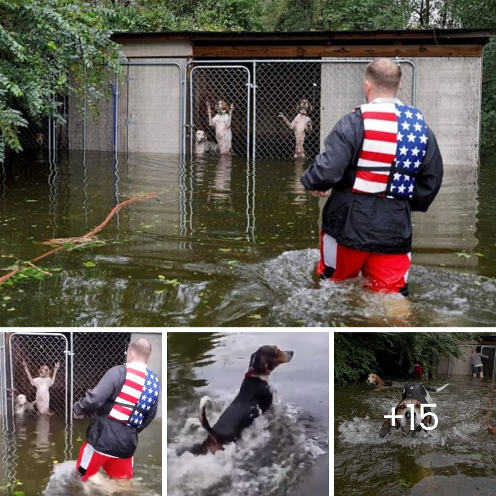
[[(50, 368), (59, 362), (55, 382), (50, 388), (50, 411), (65, 418), (67, 422), (67, 338), (61, 333), (22, 332), (13, 333), (8, 341), (10, 365), (10, 390), (15, 394), (25, 394), (28, 401), (34, 401), (36, 388), (30, 384), (23, 362), (31, 376), (38, 377), (41, 366)], [(11, 394), (11, 407), (14, 411), (14, 394)]]

